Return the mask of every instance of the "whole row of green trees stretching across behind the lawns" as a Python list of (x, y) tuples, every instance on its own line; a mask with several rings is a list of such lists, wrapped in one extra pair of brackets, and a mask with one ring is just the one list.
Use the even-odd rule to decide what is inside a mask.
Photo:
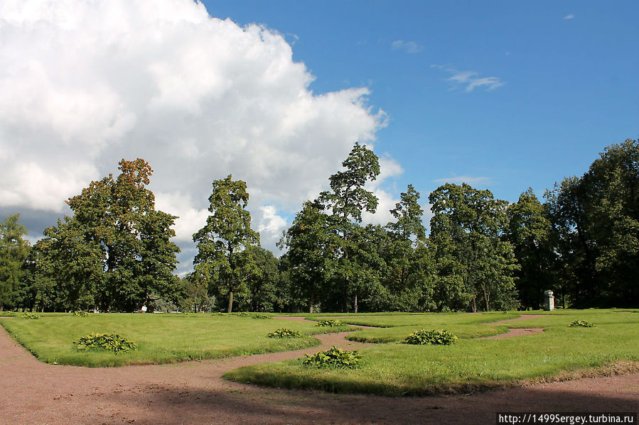
[(342, 165), (284, 231), (281, 258), (251, 228), (246, 183), (215, 180), (194, 270), (177, 277), (177, 217), (156, 210), (150, 165), (122, 160), (33, 246), (18, 214), (0, 223), (0, 309), (490, 311), (537, 309), (546, 290), (562, 307), (639, 306), (638, 140), (608, 146), (544, 202), (444, 184), (428, 232), (411, 184), (393, 221), (363, 225), (379, 160), (355, 143)]

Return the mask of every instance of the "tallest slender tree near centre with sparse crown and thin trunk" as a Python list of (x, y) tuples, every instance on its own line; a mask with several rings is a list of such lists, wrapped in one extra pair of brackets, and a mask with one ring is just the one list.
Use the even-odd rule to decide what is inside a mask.
[(377, 197), (365, 189), (365, 184), (377, 179), (380, 174), (380, 162), (372, 150), (355, 143), (342, 166), (345, 170), (336, 172), (329, 178), (332, 192), (322, 192), (319, 201), (327, 209), (331, 209), (333, 226), (342, 241), (338, 253), (338, 273), (343, 280), (343, 309), (348, 311), (348, 299), (353, 295), (353, 309), (357, 312), (358, 286), (351, 287), (353, 276), (349, 275), (353, 270), (349, 257), (354, 249), (349, 243), (350, 231), (353, 228), (351, 222), (360, 223), (363, 211), (374, 213), (377, 209)]

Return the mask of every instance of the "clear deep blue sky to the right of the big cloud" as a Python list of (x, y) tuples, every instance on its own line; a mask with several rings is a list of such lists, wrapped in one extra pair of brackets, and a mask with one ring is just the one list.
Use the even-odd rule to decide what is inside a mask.
[[(205, 1), (291, 43), (317, 93), (370, 87), (375, 150), (423, 195), (468, 177), (510, 202), (639, 134), (637, 1)], [(474, 73), (466, 82), (454, 75)], [(473, 81), (493, 84), (471, 89)]]

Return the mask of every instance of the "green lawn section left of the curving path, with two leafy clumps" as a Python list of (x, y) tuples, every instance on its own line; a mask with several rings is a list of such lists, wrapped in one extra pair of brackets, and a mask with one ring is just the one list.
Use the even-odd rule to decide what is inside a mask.
[[(174, 363), (296, 350), (316, 346), (311, 335), (345, 331), (345, 327), (319, 329), (310, 322), (254, 320), (208, 314), (42, 314), (38, 320), (0, 318), (0, 324), (18, 343), (45, 363), (89, 367)], [(286, 326), (303, 338), (268, 338)], [(73, 341), (90, 333), (119, 333), (135, 341), (138, 349), (114, 354), (75, 350)]]

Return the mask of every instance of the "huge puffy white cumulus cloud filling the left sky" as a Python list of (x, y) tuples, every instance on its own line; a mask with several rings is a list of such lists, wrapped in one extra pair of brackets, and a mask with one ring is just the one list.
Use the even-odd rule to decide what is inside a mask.
[(232, 174), (273, 248), (353, 143), (385, 125), (367, 88), (314, 94), (313, 78), (282, 35), (199, 2), (5, 0), (0, 207), (63, 213), (120, 159), (144, 158), (159, 208), (180, 216), (178, 242), (203, 226), (211, 182)]

